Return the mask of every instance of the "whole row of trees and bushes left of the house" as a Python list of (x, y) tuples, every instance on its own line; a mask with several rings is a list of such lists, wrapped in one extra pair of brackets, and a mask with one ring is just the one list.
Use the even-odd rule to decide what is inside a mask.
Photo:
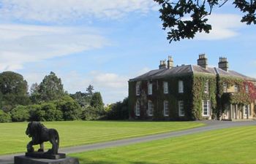
[(4, 71), (0, 74), (0, 122), (123, 120), (128, 119), (128, 100), (104, 106), (102, 96), (89, 85), (83, 93), (64, 91), (53, 72), (38, 85), (29, 87), (23, 76)]

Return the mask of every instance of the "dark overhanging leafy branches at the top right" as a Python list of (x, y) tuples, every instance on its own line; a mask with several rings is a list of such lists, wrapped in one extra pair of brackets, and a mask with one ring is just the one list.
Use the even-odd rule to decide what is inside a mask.
[[(222, 7), (227, 0), (154, 0), (161, 8), (160, 18), (164, 30), (168, 30), (167, 39), (179, 41), (180, 39), (192, 39), (197, 32), (211, 31), (211, 25), (207, 23), (208, 15), (211, 15), (214, 7)], [(256, 24), (256, 1), (255, 0), (234, 0), (236, 8), (244, 12), (241, 22), (250, 25)], [(187, 16), (190, 19), (185, 19)]]

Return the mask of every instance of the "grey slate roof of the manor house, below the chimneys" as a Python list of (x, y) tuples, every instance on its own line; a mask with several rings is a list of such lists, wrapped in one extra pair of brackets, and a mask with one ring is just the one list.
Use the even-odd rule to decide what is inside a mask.
[(149, 79), (161, 79), (164, 77), (178, 77), (185, 74), (211, 74), (211, 75), (217, 75), (219, 76), (226, 76), (226, 77), (236, 77), (240, 79), (246, 79), (249, 81), (256, 82), (255, 78), (252, 77), (246, 77), (244, 74), (240, 74), (236, 71), (228, 70), (224, 71), (219, 68), (212, 68), (208, 67), (208, 69), (204, 69), (201, 66), (176, 66), (172, 69), (156, 69), (152, 71), (148, 71), (146, 74), (142, 74), (138, 77), (135, 77), (134, 79), (129, 79), (129, 81), (140, 81), (140, 80), (149, 80)]

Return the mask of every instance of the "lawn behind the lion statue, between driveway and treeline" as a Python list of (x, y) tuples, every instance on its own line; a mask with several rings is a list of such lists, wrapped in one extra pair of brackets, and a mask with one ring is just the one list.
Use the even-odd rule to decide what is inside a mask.
[[(26, 151), (26, 144), (31, 140), (25, 134), (27, 124), (27, 122), (0, 123), (0, 155)], [(59, 131), (60, 147), (72, 147), (195, 128), (202, 126), (203, 123), (74, 121), (44, 122), (44, 125), (47, 128), (56, 128)], [(38, 147), (35, 148), (38, 149)]]

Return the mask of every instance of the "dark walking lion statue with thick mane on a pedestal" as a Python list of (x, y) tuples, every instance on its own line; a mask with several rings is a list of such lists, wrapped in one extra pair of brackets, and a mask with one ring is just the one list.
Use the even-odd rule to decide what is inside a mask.
[(56, 129), (48, 129), (40, 122), (29, 122), (28, 128), (26, 128), (26, 135), (32, 138), (27, 144), (27, 151), (34, 152), (33, 145), (40, 144), (38, 152), (44, 152), (45, 141), (50, 141), (52, 148), (48, 150), (51, 155), (57, 155), (59, 149), (59, 133)]

